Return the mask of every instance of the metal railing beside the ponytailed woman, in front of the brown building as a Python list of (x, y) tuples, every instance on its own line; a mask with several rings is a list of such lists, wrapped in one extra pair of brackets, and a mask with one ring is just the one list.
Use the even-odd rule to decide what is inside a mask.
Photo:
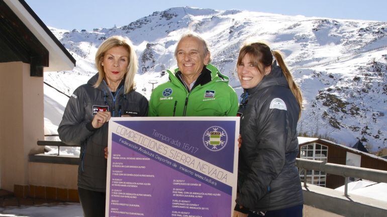
[(354, 167), (341, 164), (326, 163), (324, 161), (308, 160), (297, 158), (297, 167), (304, 169), (304, 187), (307, 187), (307, 171), (319, 170), (329, 174), (343, 176), (345, 178), (344, 194), (348, 196), (348, 179), (349, 177), (366, 179), (374, 182), (387, 183), (387, 171), (368, 169), (363, 167)]

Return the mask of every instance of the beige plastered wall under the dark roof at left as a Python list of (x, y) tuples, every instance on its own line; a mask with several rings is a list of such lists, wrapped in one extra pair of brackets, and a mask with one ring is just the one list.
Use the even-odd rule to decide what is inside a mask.
[(43, 77), (31, 77), (30, 65), (0, 63), (1, 188), (28, 185), (28, 155), (42, 153), (44, 140)]

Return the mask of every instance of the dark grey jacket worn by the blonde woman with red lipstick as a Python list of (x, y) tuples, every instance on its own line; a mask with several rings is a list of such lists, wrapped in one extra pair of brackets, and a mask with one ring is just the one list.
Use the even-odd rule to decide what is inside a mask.
[(93, 129), (90, 123), (99, 110), (105, 109), (112, 113), (112, 117), (147, 116), (148, 100), (134, 90), (124, 94), (123, 82), (113, 96), (105, 81), (98, 88), (92, 86), (97, 79), (98, 73), (87, 84), (75, 89), (67, 102), (58, 133), (62, 142), (81, 146), (78, 187), (104, 192), (108, 123), (99, 129)]

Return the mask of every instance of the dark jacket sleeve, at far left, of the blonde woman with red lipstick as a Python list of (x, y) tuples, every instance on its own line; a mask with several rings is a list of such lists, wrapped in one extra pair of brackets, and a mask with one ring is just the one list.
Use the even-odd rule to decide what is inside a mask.
[(84, 95), (78, 87), (68, 99), (62, 121), (58, 127), (59, 139), (67, 145), (81, 145), (94, 132), (86, 128)]

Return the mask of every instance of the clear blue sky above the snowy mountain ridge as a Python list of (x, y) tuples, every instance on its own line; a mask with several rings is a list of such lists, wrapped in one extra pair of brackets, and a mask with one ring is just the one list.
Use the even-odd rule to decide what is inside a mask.
[(47, 25), (60, 29), (110, 28), (124, 26), (172, 7), (197, 7), (215, 10), (247, 10), (283, 15), (304, 15), (334, 19), (387, 22), (385, 0), (25, 0)]

